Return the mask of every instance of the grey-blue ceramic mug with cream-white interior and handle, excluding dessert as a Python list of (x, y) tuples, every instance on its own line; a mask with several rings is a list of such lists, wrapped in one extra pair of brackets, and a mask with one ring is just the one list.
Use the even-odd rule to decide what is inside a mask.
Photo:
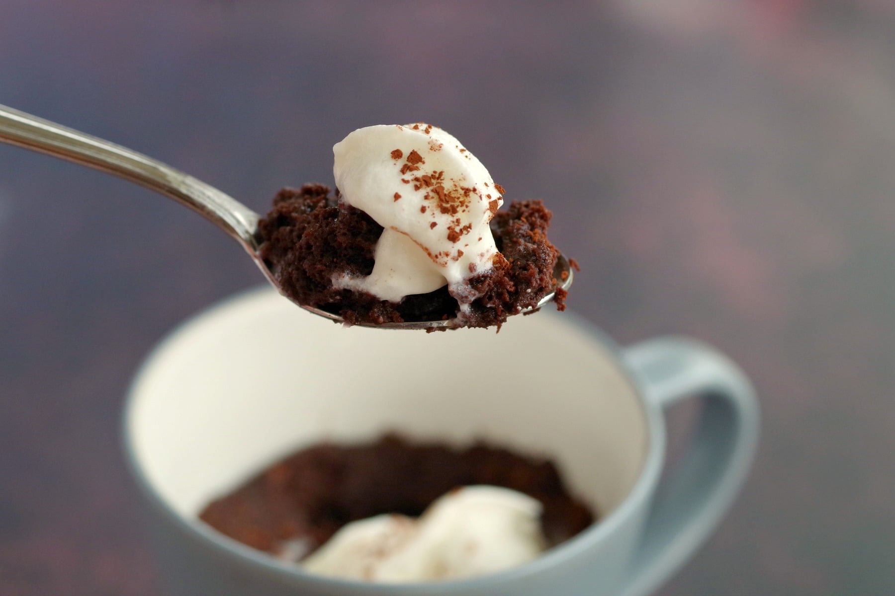
[[(617, 348), (575, 315), (493, 330), (345, 329), (268, 289), (183, 324), (137, 375), (125, 448), (149, 504), (163, 584), (184, 596), (583, 596), (652, 592), (704, 541), (758, 435), (737, 367), (694, 340)], [(704, 400), (682, 463), (660, 480), (663, 407)], [(600, 520), (533, 562), (462, 581), (333, 580), (204, 525), (200, 509), (320, 440), (382, 432), (482, 438), (558, 463)]]

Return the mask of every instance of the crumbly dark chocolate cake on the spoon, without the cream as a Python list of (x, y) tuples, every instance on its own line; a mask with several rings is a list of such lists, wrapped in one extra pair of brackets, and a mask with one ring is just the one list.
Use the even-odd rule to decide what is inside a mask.
[[(382, 226), (338, 200), (322, 184), (282, 189), (273, 208), (259, 223), (260, 255), (280, 288), (294, 301), (341, 315), (345, 323), (402, 323), (456, 320), (457, 327), (490, 327), (537, 306), (553, 291), (553, 269), (559, 251), (547, 239), (550, 211), (541, 201), (513, 202), (490, 222), (497, 248), (490, 271), (470, 278), (479, 294), (468, 313), (447, 286), (400, 303), (356, 290), (337, 290), (333, 275), (369, 275)], [(556, 306), (565, 309), (566, 292), (557, 291)]]

